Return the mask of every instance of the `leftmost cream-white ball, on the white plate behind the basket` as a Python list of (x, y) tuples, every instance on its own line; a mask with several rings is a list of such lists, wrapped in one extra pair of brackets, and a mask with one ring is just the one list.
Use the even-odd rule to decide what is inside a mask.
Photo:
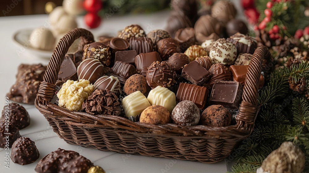
[(45, 27), (33, 30), (29, 40), (31, 47), (35, 49), (51, 50), (56, 47), (53, 33)]

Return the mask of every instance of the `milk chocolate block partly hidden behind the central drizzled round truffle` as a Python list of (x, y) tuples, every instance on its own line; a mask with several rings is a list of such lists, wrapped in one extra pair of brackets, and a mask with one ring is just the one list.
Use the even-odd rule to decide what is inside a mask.
[(135, 66), (139, 74), (146, 77), (148, 67), (153, 62), (161, 62), (161, 57), (158, 52), (141, 53), (135, 57)]

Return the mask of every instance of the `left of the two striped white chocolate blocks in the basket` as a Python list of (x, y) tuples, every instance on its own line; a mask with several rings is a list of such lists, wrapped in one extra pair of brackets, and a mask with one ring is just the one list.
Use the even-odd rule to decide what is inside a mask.
[(149, 106), (149, 101), (141, 91), (135, 91), (122, 99), (122, 107), (127, 117), (137, 116)]

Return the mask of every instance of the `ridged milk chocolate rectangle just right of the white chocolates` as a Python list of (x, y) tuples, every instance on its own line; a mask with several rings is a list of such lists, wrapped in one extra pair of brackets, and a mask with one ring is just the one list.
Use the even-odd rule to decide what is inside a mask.
[(204, 110), (208, 94), (209, 91), (204, 86), (197, 86), (189, 83), (180, 83), (176, 94), (176, 100), (178, 102), (181, 102), (183, 100), (192, 101), (197, 105), (197, 108)]

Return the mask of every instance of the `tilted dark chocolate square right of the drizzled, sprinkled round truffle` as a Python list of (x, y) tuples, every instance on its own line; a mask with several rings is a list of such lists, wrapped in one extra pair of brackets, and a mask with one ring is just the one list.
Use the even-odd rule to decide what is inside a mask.
[(211, 74), (197, 61), (192, 61), (182, 69), (182, 77), (194, 85), (203, 86), (209, 80)]

